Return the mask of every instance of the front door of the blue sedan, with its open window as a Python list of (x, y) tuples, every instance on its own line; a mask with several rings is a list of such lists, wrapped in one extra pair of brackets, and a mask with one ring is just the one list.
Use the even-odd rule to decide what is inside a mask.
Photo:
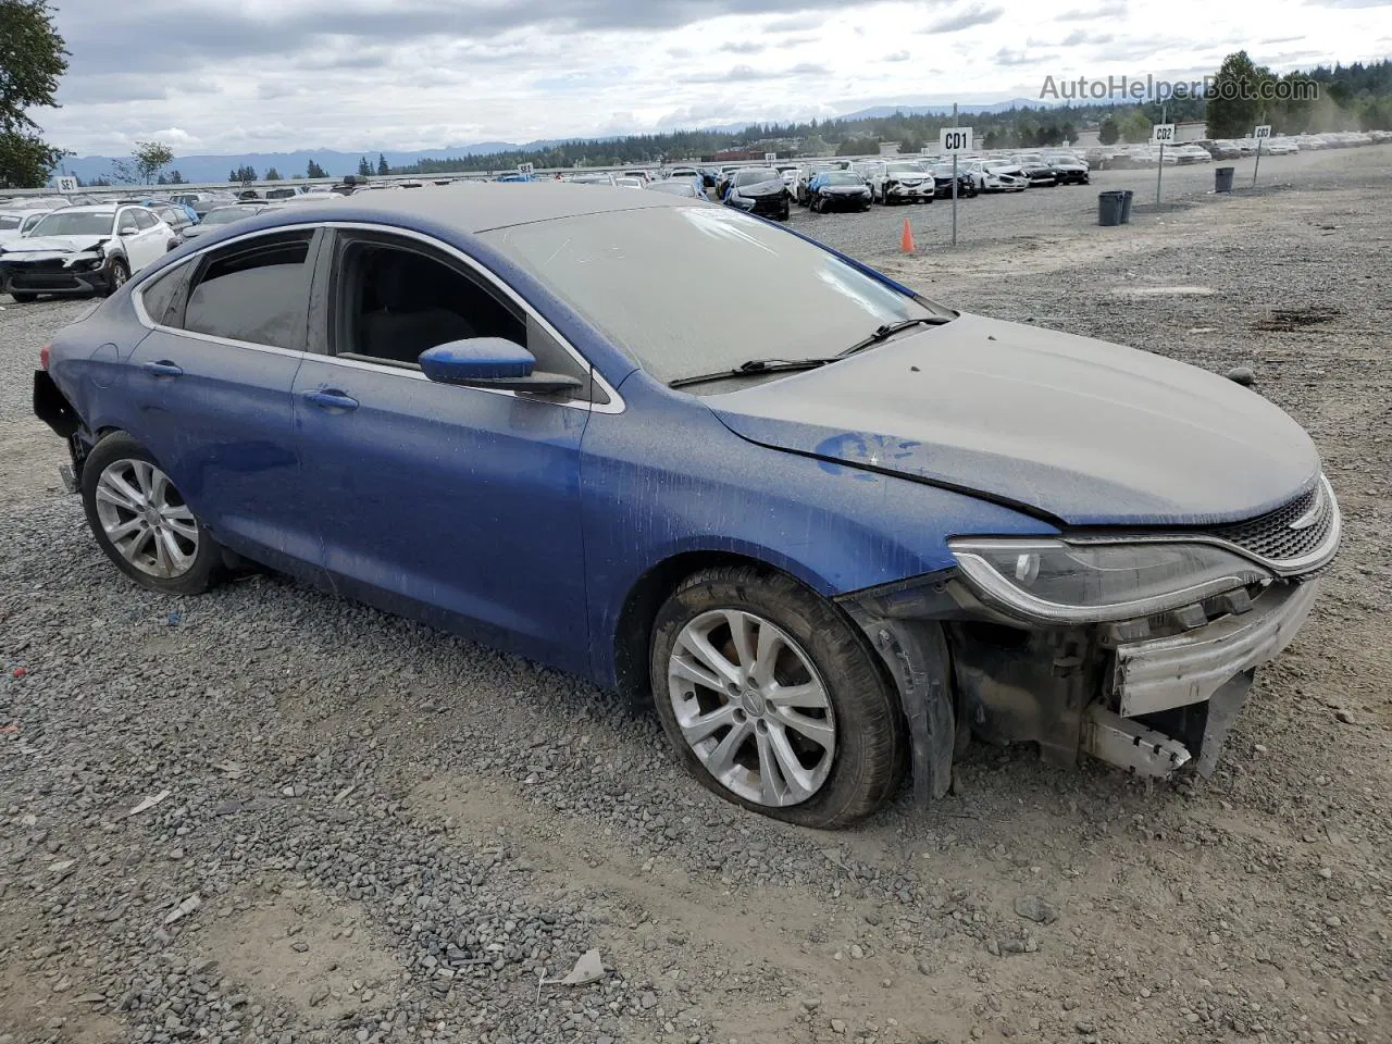
[[(444, 248), (340, 232), (333, 251), (327, 351), (294, 386), (324, 568), (386, 608), (587, 670), (587, 402), (436, 384), (416, 365), (468, 337), (561, 349), (543, 349), (521, 306)], [(574, 356), (541, 363), (587, 376)]]

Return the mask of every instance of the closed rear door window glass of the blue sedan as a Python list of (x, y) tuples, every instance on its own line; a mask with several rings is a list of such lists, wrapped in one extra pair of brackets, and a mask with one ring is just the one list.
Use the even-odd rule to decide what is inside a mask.
[(303, 351), (312, 238), (267, 235), (209, 255), (189, 290), (184, 329)]

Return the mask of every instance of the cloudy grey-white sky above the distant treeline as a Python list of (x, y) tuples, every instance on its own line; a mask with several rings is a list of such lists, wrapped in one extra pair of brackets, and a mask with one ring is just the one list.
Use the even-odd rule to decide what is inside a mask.
[(430, 149), (1392, 54), (1392, 0), (53, 0), (78, 155)]

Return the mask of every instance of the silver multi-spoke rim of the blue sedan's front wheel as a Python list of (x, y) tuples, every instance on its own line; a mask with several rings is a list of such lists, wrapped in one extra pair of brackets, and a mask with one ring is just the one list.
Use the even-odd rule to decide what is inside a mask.
[(837, 720), (806, 650), (743, 610), (703, 612), (667, 665), (682, 738), (732, 793), (782, 807), (813, 798), (831, 773)]

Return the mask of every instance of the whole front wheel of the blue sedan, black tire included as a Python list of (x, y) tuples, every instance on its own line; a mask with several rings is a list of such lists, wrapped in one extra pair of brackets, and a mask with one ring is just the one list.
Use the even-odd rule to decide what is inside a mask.
[[(741, 657), (731, 619), (743, 631), (753, 667), (734, 664)], [(707, 651), (697, 656), (693, 647)], [(718, 689), (696, 681), (715, 681), (706, 663), (748, 681), (746, 671), (760, 670), (759, 649), (775, 650), (764, 683)], [(653, 622), (649, 672), (663, 731), (682, 764), (713, 793), (752, 812), (803, 827), (845, 827), (880, 809), (906, 773), (908, 725), (874, 651), (831, 604), (781, 574), (720, 567), (688, 578)], [(802, 696), (782, 709), (764, 700), (780, 688)], [(763, 770), (766, 763), (778, 771)]]

